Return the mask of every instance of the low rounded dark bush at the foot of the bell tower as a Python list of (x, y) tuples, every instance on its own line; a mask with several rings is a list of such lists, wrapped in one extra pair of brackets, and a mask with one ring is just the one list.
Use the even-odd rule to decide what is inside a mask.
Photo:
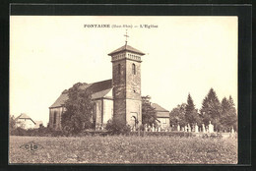
[(111, 135), (128, 135), (131, 132), (129, 125), (122, 125), (115, 120), (108, 120), (105, 129), (109, 131)]

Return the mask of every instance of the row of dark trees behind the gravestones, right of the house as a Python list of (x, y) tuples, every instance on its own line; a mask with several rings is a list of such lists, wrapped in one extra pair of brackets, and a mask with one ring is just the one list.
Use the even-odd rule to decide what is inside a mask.
[(214, 125), (217, 132), (237, 131), (237, 114), (231, 95), (219, 100), (214, 88), (211, 88), (203, 100), (201, 109), (196, 109), (192, 96), (188, 94), (187, 103), (182, 103), (170, 112), (170, 125), (181, 127), (189, 124), (199, 127), (202, 124)]

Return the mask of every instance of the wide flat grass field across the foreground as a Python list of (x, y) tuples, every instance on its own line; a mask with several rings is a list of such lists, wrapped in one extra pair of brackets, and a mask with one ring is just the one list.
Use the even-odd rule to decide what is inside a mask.
[[(28, 142), (43, 146), (29, 151)], [(10, 137), (10, 163), (236, 164), (236, 139), (175, 137)]]

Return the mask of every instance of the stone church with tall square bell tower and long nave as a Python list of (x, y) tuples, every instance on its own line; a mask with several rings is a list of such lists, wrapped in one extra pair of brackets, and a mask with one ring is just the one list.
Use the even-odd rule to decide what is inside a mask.
[[(145, 53), (128, 45), (126, 39), (125, 45), (108, 54), (112, 62), (112, 79), (81, 85), (81, 88), (88, 88), (93, 92), (93, 122), (96, 126), (104, 126), (113, 117), (119, 123), (127, 123), (132, 127), (137, 125), (135, 121), (138, 121), (138, 125), (142, 123), (141, 58), (144, 55)], [(64, 103), (67, 99), (68, 91), (64, 90), (49, 107), (50, 128), (62, 129), (61, 115), (65, 111)], [(168, 120), (169, 115), (165, 114), (164, 117)]]

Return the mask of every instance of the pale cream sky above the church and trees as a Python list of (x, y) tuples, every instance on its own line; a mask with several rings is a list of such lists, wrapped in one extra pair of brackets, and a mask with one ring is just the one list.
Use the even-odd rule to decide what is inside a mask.
[(186, 102), (190, 93), (200, 109), (213, 87), (220, 100), (231, 95), (237, 108), (237, 20), (226, 16), (11, 16), (10, 115), (27, 113), (46, 126), (48, 107), (64, 89), (112, 79), (107, 54), (125, 44), (126, 29), (128, 45), (146, 54), (142, 95), (150, 95), (152, 102), (171, 111)]

